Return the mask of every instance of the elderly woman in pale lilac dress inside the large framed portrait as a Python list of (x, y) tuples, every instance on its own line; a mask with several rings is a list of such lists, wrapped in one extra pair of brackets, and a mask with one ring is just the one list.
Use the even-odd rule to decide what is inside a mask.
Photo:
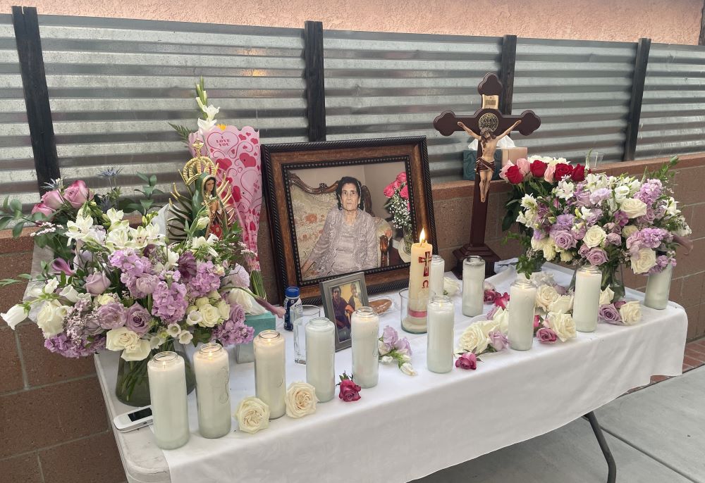
[(306, 277), (326, 277), (377, 266), (374, 219), (364, 211), (362, 184), (344, 176), (336, 187), (338, 206), (326, 215), (321, 237), (301, 267)]

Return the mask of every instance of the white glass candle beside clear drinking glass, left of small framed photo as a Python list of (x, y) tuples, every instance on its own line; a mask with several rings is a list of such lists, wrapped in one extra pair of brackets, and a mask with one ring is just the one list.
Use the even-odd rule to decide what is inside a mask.
[(336, 395), (336, 325), (325, 317), (306, 324), (306, 382), (324, 403)]

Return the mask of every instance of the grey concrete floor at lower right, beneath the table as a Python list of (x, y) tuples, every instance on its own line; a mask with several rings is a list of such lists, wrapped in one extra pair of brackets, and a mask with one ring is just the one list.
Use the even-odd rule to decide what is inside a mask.
[[(705, 483), (705, 366), (627, 394), (596, 411), (619, 483)], [(415, 483), (606, 482), (589, 422), (446, 468)]]

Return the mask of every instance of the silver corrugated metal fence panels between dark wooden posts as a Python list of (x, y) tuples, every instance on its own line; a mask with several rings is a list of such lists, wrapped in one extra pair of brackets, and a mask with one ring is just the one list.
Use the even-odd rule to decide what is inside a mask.
[[(206, 78), (219, 121), (254, 125), (262, 142), (307, 140), (302, 29), (39, 15), (61, 174), (92, 186), (107, 166), (176, 180), (188, 159), (167, 122), (195, 128), (194, 84)], [(37, 200), (11, 15), (0, 15), (0, 193)], [(442, 111), (479, 107), (502, 39), (324, 30), (327, 139), (425, 135), (434, 182), (460, 179), (470, 139), (443, 137)], [(580, 161), (622, 158), (636, 44), (518, 39), (513, 113), (541, 127), (517, 144)], [(705, 150), (705, 47), (651, 47), (637, 157)]]

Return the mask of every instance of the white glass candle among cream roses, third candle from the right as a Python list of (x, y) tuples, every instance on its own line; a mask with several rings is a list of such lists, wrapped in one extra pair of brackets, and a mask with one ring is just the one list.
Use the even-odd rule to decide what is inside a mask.
[(529, 280), (515, 280), (509, 289), (509, 331), (512, 349), (527, 351), (534, 343), (536, 286)]

